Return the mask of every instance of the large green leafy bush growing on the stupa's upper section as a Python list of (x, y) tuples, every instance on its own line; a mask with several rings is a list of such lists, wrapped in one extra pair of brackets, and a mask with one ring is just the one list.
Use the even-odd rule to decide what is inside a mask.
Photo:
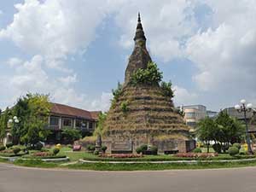
[(146, 69), (139, 68), (131, 75), (131, 84), (159, 84), (163, 78), (163, 73), (154, 62), (148, 62)]

